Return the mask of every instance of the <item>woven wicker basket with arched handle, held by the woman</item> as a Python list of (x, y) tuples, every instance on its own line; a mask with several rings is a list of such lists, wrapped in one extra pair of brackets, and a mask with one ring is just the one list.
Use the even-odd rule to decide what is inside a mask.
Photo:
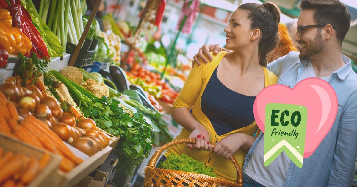
[[(155, 168), (156, 162), (158, 161), (161, 153), (165, 149), (181, 144), (181, 143), (195, 143), (195, 139), (180, 139), (170, 143), (165, 144), (160, 147), (154, 155), (151, 157), (149, 164), (145, 168), (145, 179), (144, 187), (195, 187), (195, 186), (205, 186), (205, 187), (242, 187), (243, 186), (243, 176), (241, 168), (235, 158), (231, 157), (231, 161), (237, 169), (237, 183), (227, 181), (224, 179), (219, 179), (215, 177), (210, 177), (204, 174), (190, 173), (184, 171), (175, 171), (170, 169)], [(212, 144), (212, 148), (215, 147)]]

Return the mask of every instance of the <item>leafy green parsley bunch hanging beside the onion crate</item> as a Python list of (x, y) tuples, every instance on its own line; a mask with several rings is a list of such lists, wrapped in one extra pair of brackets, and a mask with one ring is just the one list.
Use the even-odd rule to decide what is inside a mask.
[(120, 153), (121, 164), (118, 168), (131, 175), (133, 168), (149, 155), (153, 130), (142, 114), (131, 115), (119, 104), (119, 101), (103, 96), (81, 110), (85, 117), (94, 119), (98, 127), (114, 136), (120, 136), (120, 142), (115, 148)]

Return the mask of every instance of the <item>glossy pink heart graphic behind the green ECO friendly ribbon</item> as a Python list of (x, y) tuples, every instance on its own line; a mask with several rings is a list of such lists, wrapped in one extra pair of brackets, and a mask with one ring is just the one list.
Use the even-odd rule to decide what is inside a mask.
[(256, 123), (263, 133), (265, 105), (268, 103), (295, 104), (307, 108), (304, 158), (310, 157), (326, 137), (338, 110), (335, 90), (322, 79), (304, 79), (293, 89), (281, 84), (270, 85), (257, 95), (253, 106)]

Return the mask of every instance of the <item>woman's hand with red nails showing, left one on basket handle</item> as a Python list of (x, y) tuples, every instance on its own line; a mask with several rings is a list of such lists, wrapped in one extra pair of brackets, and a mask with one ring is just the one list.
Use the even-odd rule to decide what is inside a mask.
[(207, 129), (204, 127), (197, 128), (192, 131), (189, 139), (196, 139), (196, 143), (186, 143), (186, 147), (190, 148), (191, 150), (205, 150), (205, 151), (212, 151), (212, 146), (210, 144), (210, 135), (208, 134)]

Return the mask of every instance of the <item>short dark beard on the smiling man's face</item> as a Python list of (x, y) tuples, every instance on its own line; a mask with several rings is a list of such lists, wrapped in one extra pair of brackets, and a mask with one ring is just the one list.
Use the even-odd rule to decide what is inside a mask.
[[(303, 40), (301, 40), (303, 41)], [(306, 44), (305, 42), (300, 42), (299, 44)], [(309, 47), (305, 47), (304, 52), (300, 50), (299, 58), (300, 60), (308, 60), (313, 56), (319, 54), (324, 48), (324, 42), (321, 38), (321, 31), (317, 32), (315, 39), (310, 43)]]

